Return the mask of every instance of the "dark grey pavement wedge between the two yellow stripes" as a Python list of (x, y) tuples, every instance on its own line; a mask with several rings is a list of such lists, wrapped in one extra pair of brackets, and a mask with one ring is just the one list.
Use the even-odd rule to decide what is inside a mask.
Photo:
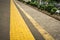
[(45, 40), (43, 38), (43, 36), (40, 34), (40, 32), (34, 27), (34, 25), (30, 22), (30, 20), (26, 17), (26, 15), (20, 9), (19, 9), (19, 12), (22, 15), (25, 23), (27, 24), (28, 28), (30, 29), (30, 31), (31, 31), (32, 35), (34, 36), (35, 40)]

